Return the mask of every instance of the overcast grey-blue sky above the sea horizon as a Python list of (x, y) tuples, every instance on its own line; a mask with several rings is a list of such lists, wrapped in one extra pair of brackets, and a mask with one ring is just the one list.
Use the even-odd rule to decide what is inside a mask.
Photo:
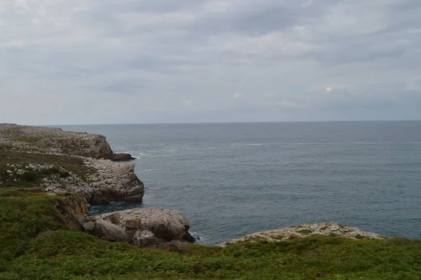
[(0, 0), (0, 123), (421, 119), (420, 0)]

